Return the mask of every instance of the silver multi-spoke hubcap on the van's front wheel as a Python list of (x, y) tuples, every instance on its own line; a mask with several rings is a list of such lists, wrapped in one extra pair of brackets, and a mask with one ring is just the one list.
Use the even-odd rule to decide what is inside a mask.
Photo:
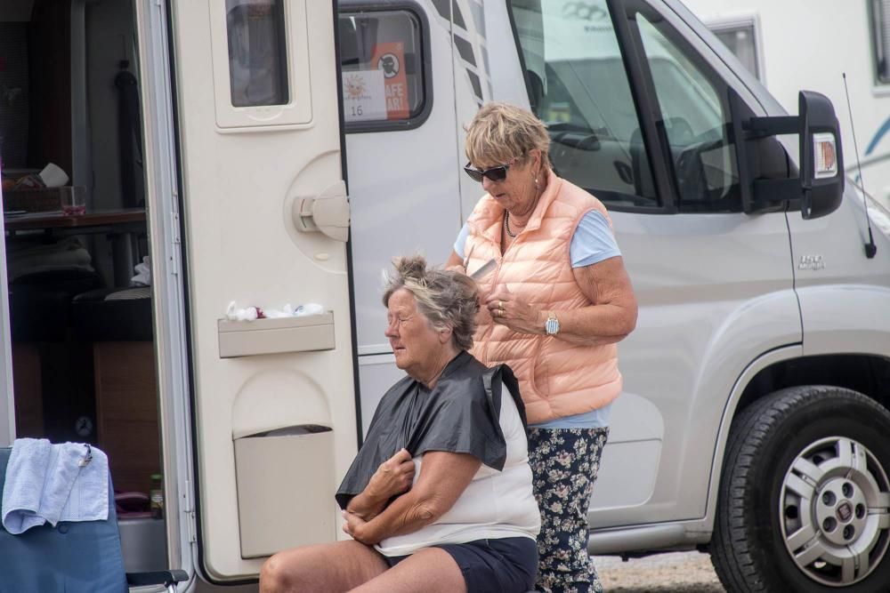
[(782, 538), (813, 581), (862, 581), (890, 545), (890, 480), (862, 444), (829, 437), (797, 454), (782, 482)]

